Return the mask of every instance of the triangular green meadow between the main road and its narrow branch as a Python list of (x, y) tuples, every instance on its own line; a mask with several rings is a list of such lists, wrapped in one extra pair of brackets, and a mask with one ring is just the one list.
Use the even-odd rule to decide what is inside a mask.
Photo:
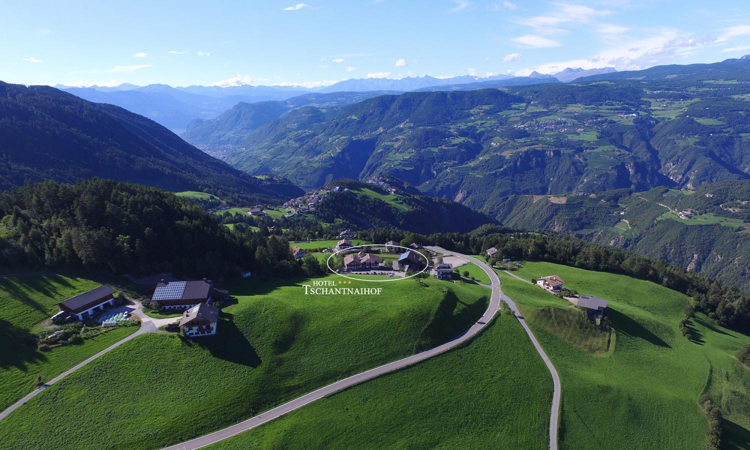
[(209, 449), (481, 449), (488, 443), (543, 449), (551, 386), (526, 333), (505, 313), (464, 347)]

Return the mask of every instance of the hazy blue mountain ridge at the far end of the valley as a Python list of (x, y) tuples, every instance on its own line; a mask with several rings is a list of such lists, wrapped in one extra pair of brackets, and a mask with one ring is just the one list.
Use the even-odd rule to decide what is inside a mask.
[(299, 107), (339, 107), (358, 103), (379, 95), (394, 92), (332, 92), (330, 94), (305, 94), (285, 101), (240, 102), (211, 120), (195, 119), (187, 124), (182, 139), (201, 148), (240, 145), (249, 133)]

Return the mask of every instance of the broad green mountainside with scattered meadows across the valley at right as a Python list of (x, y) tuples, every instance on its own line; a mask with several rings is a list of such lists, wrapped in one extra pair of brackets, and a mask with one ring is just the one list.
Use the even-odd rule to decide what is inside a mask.
[(257, 128), (229, 161), (303, 187), (341, 175), (393, 175), (474, 208), (513, 193), (748, 178), (750, 60), (697, 66), (655, 81), (637, 74), (598, 80), (622, 77), (614, 73), (570, 85), (411, 92), (302, 108)]

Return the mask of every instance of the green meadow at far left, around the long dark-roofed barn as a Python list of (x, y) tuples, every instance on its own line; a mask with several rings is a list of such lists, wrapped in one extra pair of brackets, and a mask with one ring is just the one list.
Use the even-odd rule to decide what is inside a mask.
[(0, 410), (34, 389), (37, 376), (47, 381), (77, 365), (116, 341), (136, 332), (137, 327), (111, 329), (83, 344), (37, 350), (33, 332), (58, 311), (62, 302), (99, 283), (62, 275), (28, 275), (0, 278)]

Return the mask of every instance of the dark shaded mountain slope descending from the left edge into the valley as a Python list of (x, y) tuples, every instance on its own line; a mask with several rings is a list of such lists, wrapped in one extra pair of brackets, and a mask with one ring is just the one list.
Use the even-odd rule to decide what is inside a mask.
[(120, 107), (46, 86), (0, 82), (0, 189), (95, 176), (248, 201), (302, 192), (283, 178), (234, 169)]

